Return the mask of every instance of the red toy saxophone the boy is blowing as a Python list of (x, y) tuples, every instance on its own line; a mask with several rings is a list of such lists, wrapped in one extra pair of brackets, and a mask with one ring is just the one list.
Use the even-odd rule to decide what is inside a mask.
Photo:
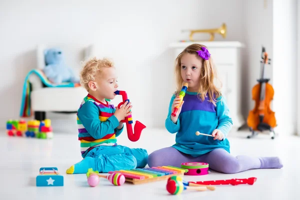
[[(122, 102), (120, 102), (117, 107), (120, 108), (122, 104), (127, 100), (129, 102), (129, 99), (127, 97), (127, 93), (125, 91), (121, 90), (116, 90), (114, 92), (116, 95), (121, 95), (122, 96)], [(140, 137), (140, 133), (142, 129), (144, 129), (146, 126), (139, 122), (138, 120), (135, 121), (134, 124), (134, 133), (132, 131), (132, 115), (128, 115), (125, 117), (125, 119), (121, 120), (122, 122), (126, 123), (126, 129), (127, 129), (127, 135), (130, 141), (137, 141)]]

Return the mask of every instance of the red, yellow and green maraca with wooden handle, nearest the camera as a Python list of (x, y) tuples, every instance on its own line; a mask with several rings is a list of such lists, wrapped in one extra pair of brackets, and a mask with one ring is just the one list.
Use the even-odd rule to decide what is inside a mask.
[(197, 187), (189, 187), (185, 186), (183, 182), (179, 180), (169, 180), (166, 183), (166, 190), (170, 194), (180, 194), (183, 190), (190, 189), (190, 190), (197, 190), (197, 191), (205, 191), (207, 188), (206, 186), (197, 186)]

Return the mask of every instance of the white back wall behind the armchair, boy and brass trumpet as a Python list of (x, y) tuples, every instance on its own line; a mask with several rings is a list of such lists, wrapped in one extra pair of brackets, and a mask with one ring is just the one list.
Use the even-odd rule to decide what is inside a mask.
[[(0, 127), (18, 118), (23, 80), (36, 64), (35, 46), (59, 42), (78, 48), (98, 44), (99, 55), (111, 56), (118, 67), (119, 89), (133, 103), (133, 120), (163, 126), (171, 95), (163, 94), (173, 75), (169, 43), (187, 39), (181, 29), (222, 22), (226, 40), (241, 40), (241, 6), (239, 0), (0, 1)], [(68, 129), (62, 122), (55, 127)]]

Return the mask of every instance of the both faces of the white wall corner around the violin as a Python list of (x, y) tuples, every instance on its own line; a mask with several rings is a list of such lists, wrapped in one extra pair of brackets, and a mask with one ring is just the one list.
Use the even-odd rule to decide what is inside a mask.
[(265, 46), (271, 64), (265, 65), (265, 76), (274, 88), (271, 109), (275, 112), (281, 135), (294, 134), (296, 128), (296, 0), (244, 1), (243, 114), (253, 109), (251, 89), (260, 75), (261, 45)]

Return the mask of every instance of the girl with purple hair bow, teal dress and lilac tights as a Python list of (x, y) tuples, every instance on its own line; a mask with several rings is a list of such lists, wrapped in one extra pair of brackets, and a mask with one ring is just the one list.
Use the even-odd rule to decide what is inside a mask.
[[(236, 173), (257, 168), (281, 168), (278, 157), (249, 157), (230, 154), (226, 138), (232, 126), (225, 98), (213, 83), (215, 72), (206, 46), (191, 44), (176, 58), (177, 90), (172, 95), (165, 127), (176, 133), (175, 144), (152, 152), (148, 165), (172, 165), (182, 162), (207, 162), (209, 168), (223, 173)], [(178, 94), (183, 82), (188, 83), (180, 103)], [(179, 106), (175, 116), (171, 113)], [(196, 135), (195, 132), (211, 134)]]

